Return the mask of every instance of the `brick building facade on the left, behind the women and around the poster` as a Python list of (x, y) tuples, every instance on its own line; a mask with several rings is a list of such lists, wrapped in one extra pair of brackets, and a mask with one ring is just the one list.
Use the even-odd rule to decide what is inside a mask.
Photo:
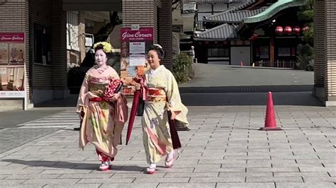
[[(163, 64), (172, 69), (172, 1), (168, 0), (7, 0), (0, 2), (0, 33), (26, 34), (26, 102), (0, 98), (1, 108), (29, 108), (53, 99), (67, 98), (67, 71), (85, 57), (85, 34), (95, 33), (103, 15), (118, 11), (123, 24), (109, 40), (120, 47), (120, 28), (138, 24), (152, 27), (155, 42), (167, 53)], [(95, 20), (100, 18), (102, 20)], [(96, 27), (90, 28), (95, 23)], [(91, 31), (90, 31), (91, 30)]]

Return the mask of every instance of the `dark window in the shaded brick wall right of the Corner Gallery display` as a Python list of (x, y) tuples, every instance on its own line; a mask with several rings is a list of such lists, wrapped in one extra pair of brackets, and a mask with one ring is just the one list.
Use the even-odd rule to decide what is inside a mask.
[(35, 37), (35, 63), (51, 64), (51, 34), (50, 28), (34, 23), (34, 37)]

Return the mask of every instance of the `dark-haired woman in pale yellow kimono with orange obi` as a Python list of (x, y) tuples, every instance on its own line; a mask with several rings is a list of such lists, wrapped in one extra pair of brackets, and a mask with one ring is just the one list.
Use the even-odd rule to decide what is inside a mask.
[(135, 88), (139, 90), (145, 85), (147, 99), (142, 114), (142, 132), (148, 174), (155, 173), (157, 162), (162, 155), (165, 158), (166, 168), (174, 163), (174, 148), (169, 130), (167, 110), (171, 110), (175, 121), (188, 124), (186, 114), (188, 109), (181, 103), (179, 88), (172, 72), (160, 65), (164, 58), (164, 50), (159, 45), (153, 45), (147, 52), (147, 61), (150, 70), (145, 74), (145, 83), (137, 83)]

